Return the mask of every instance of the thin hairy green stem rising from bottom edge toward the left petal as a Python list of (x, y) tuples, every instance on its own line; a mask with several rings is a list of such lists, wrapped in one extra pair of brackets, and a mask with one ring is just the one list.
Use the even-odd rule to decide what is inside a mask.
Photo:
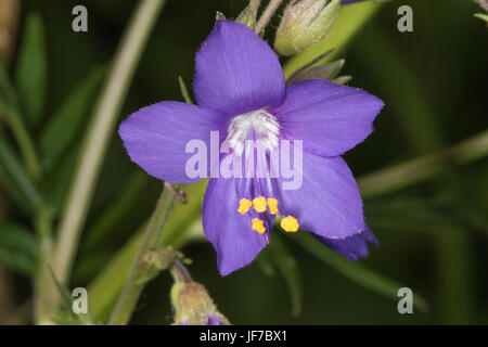
[(139, 296), (145, 285), (145, 282), (138, 280), (141, 279), (150, 268), (150, 265), (144, 261), (144, 256), (151, 248), (158, 245), (164, 226), (175, 206), (175, 201), (176, 196), (168, 189), (164, 189), (144, 233), (132, 270), (118, 297), (111, 319), (108, 320), (108, 324), (124, 325), (129, 322), (132, 311), (139, 300)]

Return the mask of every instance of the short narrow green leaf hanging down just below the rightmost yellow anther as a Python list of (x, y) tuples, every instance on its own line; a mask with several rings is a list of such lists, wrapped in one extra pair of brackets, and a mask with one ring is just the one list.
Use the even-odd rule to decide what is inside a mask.
[(290, 299), (292, 300), (292, 314), (296, 317), (301, 311), (303, 300), (301, 278), (297, 261), (278, 233), (273, 235), (273, 244), (270, 250), (278, 270), (288, 286)]

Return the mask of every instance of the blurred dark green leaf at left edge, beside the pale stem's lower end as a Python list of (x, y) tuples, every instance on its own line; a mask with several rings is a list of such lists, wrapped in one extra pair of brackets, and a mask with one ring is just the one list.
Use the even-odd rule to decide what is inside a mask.
[(0, 265), (24, 274), (36, 272), (37, 244), (27, 228), (0, 221)]

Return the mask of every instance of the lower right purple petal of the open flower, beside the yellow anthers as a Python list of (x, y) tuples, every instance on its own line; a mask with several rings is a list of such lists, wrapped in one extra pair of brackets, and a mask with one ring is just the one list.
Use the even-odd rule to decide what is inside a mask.
[[(299, 165), (294, 165), (299, 166)], [(300, 230), (328, 239), (344, 239), (364, 230), (362, 200), (346, 162), (304, 152), (299, 189), (278, 192), (280, 215), (298, 219)], [(298, 169), (295, 179), (300, 175)]]

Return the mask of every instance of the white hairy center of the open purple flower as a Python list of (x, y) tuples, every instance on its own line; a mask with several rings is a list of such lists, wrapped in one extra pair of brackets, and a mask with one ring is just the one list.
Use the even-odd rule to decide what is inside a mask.
[(261, 108), (235, 116), (229, 125), (226, 140), (235, 154), (242, 155), (246, 141), (258, 142), (264, 150), (274, 150), (278, 147), (279, 133), (277, 118)]

